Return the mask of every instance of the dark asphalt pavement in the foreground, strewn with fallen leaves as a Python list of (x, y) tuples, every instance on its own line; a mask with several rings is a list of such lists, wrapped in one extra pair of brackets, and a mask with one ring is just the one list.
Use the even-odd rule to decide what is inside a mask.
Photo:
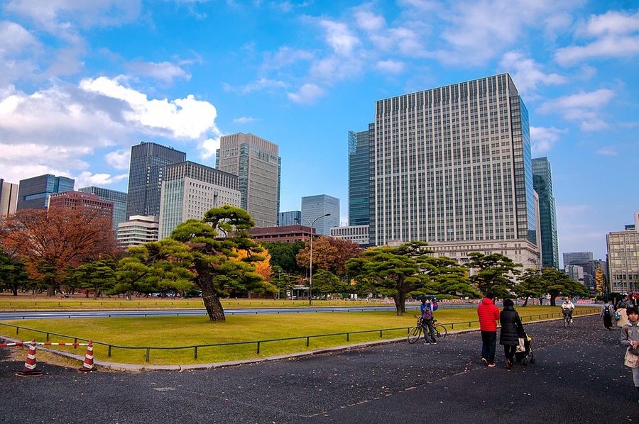
[[(481, 366), (477, 333), (192, 372), (80, 374), (2, 359), (4, 423), (625, 423), (639, 394), (599, 317), (528, 324), (536, 364)], [(426, 415), (426, 414), (429, 415)], [(561, 415), (561, 418), (560, 418)]]

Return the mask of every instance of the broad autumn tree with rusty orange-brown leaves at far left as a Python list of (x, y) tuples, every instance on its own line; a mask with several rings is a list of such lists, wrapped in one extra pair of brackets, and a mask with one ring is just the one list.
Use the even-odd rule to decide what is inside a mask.
[(111, 219), (89, 209), (19, 211), (0, 223), (0, 245), (26, 265), (29, 276), (41, 281), (49, 296), (70, 267), (121, 254)]

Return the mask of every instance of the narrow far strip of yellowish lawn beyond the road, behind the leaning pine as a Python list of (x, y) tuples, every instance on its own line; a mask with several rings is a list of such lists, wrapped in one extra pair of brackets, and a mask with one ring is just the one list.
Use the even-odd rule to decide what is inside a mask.
[[(313, 301), (312, 306), (378, 306), (378, 301)], [(273, 300), (273, 299), (222, 299), (224, 308), (299, 308), (308, 306), (308, 301), (302, 300)], [(200, 298), (106, 298), (91, 299), (75, 297), (62, 299), (60, 297), (38, 296), (0, 296), (0, 311), (70, 311), (78, 309), (187, 309), (204, 308)]]

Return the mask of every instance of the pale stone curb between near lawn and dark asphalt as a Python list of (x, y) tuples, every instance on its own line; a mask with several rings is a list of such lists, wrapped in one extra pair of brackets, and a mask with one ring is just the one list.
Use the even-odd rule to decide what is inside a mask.
[[(584, 316), (594, 316), (599, 315), (599, 313), (586, 313), (584, 315), (575, 316), (574, 318), (581, 318)], [(557, 321), (563, 320), (564, 318), (548, 318), (545, 320), (535, 320), (535, 321), (526, 321), (524, 324), (536, 324), (536, 323), (547, 323), (548, 321)], [(498, 326), (500, 328), (501, 326)], [(447, 332), (447, 335), (458, 335), (464, 333), (474, 333), (479, 331), (479, 328), (469, 328), (466, 330), (451, 330)], [(2, 337), (5, 340), (11, 340), (11, 342), (19, 342), (21, 340), (14, 340), (10, 337)], [(361, 349), (363, 347), (368, 346), (378, 346), (378, 345), (390, 345), (391, 343), (405, 342), (406, 337), (397, 337), (394, 339), (388, 340), (377, 340), (375, 342), (364, 342), (357, 343), (355, 345), (342, 345), (342, 346), (334, 346), (334, 347), (325, 347), (324, 349), (317, 350), (309, 350), (307, 352), (295, 352), (285, 355), (275, 355), (271, 357), (263, 357), (263, 358), (255, 358), (255, 359), (241, 359), (239, 361), (227, 361), (227, 362), (212, 362), (207, 364), (189, 364), (189, 365), (138, 365), (138, 364), (121, 364), (118, 362), (106, 362), (106, 361), (98, 361), (94, 359), (94, 364), (109, 369), (111, 371), (119, 371), (119, 372), (146, 372), (146, 371), (195, 371), (197, 369), (216, 369), (216, 368), (226, 368), (226, 367), (237, 367), (239, 365), (245, 364), (256, 364), (258, 362), (269, 362), (269, 361), (279, 361), (282, 359), (297, 359), (303, 357), (310, 357), (314, 355), (322, 355), (333, 352), (345, 352), (347, 350), (356, 350)], [(58, 350), (53, 350), (45, 347), (38, 347), (38, 350), (43, 350), (45, 352), (50, 352), (53, 355), (58, 355), (61, 357), (67, 357), (70, 359), (77, 359), (82, 362), (84, 360), (84, 355), (73, 355), (72, 353), (60, 352)]]

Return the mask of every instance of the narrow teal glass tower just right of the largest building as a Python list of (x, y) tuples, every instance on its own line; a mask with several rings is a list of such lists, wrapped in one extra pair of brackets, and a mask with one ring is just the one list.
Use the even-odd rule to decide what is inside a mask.
[(542, 266), (559, 269), (557, 243), (557, 213), (552, 195), (552, 171), (547, 157), (532, 160), (532, 180), (539, 194), (539, 213), (542, 238)]

